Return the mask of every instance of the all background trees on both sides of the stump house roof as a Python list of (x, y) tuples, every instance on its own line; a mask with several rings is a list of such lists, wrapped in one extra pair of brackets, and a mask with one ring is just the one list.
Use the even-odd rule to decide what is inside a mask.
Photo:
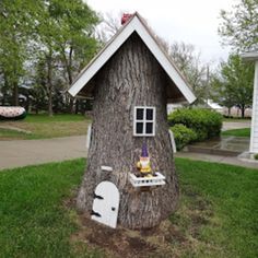
[[(192, 86), (197, 105), (213, 98), (228, 113), (239, 107), (244, 117), (251, 106), (254, 66), (243, 62), (239, 52), (258, 49), (258, 3), (238, 1), (232, 12), (221, 11), (219, 34), (232, 54), (215, 70), (201, 61), (194, 45), (156, 39)], [(119, 30), (120, 16), (101, 16), (83, 0), (1, 0), (0, 105), (22, 105), (50, 116), (91, 108), (89, 101), (67, 91)]]

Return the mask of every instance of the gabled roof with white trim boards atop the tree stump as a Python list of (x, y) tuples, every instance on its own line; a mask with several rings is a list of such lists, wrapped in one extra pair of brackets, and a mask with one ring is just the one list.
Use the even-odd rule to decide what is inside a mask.
[(187, 84), (186, 80), (169, 57), (160, 47), (156, 38), (137, 12), (95, 56), (95, 58), (93, 58), (92, 61), (81, 71), (75, 81), (72, 83), (69, 93), (72, 96), (80, 96), (82, 95), (84, 87), (92, 87), (90, 81), (134, 32), (140, 36), (161, 67), (167, 73), (169, 79), (173, 81), (173, 85), (176, 85), (176, 91), (179, 92), (180, 95), (177, 95), (177, 98), (180, 98), (180, 101), (183, 98), (189, 103), (192, 103), (196, 99), (196, 96), (194, 95), (190, 86)]

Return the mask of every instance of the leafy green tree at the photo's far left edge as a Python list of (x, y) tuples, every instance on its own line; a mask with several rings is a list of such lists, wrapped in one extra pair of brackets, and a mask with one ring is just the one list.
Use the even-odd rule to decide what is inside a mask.
[(34, 27), (36, 9), (35, 1), (30, 0), (0, 2), (0, 73), (4, 93), (12, 91), (13, 105), (19, 105), (19, 84), (25, 72), (26, 44)]

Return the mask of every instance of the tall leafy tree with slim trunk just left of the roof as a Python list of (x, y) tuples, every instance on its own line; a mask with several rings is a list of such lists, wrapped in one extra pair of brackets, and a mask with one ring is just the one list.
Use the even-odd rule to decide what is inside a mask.
[[(52, 115), (54, 81), (59, 71), (64, 75), (66, 89), (74, 77), (92, 58), (97, 48), (93, 30), (98, 19), (82, 0), (45, 1), (43, 14), (38, 22), (39, 58), (46, 62), (46, 90), (48, 94), (48, 114)], [(72, 109), (73, 99), (70, 101)]]

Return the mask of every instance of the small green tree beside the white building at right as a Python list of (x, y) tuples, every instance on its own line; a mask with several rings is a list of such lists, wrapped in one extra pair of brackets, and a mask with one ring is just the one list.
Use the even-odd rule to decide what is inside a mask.
[(254, 64), (243, 62), (237, 54), (231, 54), (220, 70), (221, 77), (213, 78), (214, 99), (227, 108), (238, 106), (244, 118), (245, 109), (253, 102)]

